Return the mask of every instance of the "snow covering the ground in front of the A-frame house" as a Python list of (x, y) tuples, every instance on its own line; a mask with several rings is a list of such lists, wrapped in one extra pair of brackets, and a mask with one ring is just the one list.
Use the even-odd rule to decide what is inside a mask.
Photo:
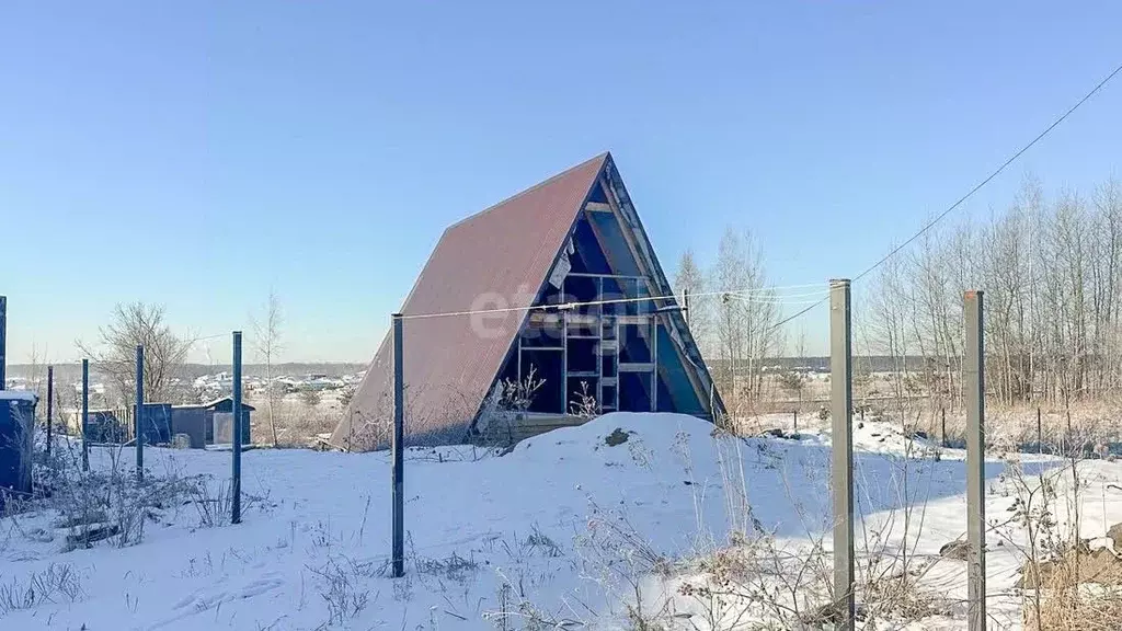
[[(859, 571), (891, 569), (892, 551), (903, 551), (917, 592), (938, 604), (920, 620), (885, 613), (867, 627), (965, 628), (966, 565), (939, 556), (965, 538), (964, 454), (908, 440), (889, 423), (855, 428)], [(64, 551), (59, 514), (31, 510), (0, 522), (0, 629), (745, 627), (767, 612), (736, 598), (715, 605), (684, 586), (738, 549), (803, 559), (810, 571), (817, 546), (830, 547), (829, 436), (712, 430), (689, 417), (615, 413), (502, 456), (411, 451), (401, 579), (388, 577), (385, 452), (247, 451), (243, 523), (208, 527), (194, 502), (176, 501), (149, 511), (142, 540), (127, 547), (109, 539)], [(111, 467), (111, 455), (94, 449), (93, 467)], [(131, 463), (131, 451), (121, 458)], [(146, 464), (151, 477), (203, 476), (217, 490), (230, 455), (149, 449)], [(986, 466), (997, 627), (1015, 628), (1022, 613), (1018, 481), (1061, 472), (1063, 461), (1038, 456), (1013, 466), (994, 455)], [(1122, 485), (1122, 464), (1087, 461), (1078, 472), (1080, 530), (1101, 545), (1122, 521), (1122, 490), (1110, 487)], [(1070, 475), (1055, 477), (1063, 500)], [(63, 588), (42, 587), (59, 573), (70, 577)], [(808, 584), (799, 598), (812, 596)]]

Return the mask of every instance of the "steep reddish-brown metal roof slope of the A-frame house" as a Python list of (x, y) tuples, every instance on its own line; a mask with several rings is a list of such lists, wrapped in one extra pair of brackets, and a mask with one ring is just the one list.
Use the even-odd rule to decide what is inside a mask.
[[(463, 438), (525, 312), (411, 317), (528, 307), (608, 159), (607, 153), (598, 155), (444, 230), (402, 308), (408, 443)], [(332, 435), (335, 446), (387, 441), (390, 336)]]

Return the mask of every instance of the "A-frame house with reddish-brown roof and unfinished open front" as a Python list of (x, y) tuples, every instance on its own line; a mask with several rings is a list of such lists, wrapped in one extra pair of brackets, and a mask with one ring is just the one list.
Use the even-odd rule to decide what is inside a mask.
[[(503, 384), (531, 371), (542, 383), (507, 422), (572, 424), (581, 395), (603, 412), (724, 412), (607, 153), (449, 227), (401, 313), (410, 445), (494, 431)], [(387, 443), (392, 346), (387, 332), (332, 445)]]

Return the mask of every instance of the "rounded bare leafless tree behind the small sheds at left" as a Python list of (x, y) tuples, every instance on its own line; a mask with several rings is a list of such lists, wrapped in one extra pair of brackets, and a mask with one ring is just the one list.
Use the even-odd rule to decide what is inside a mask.
[(144, 346), (144, 387), (150, 401), (172, 401), (174, 379), (183, 367), (191, 341), (176, 336), (160, 304), (117, 304), (109, 324), (98, 329), (96, 345), (76, 341), (99, 373), (117, 386), (126, 405), (136, 402), (136, 347)]

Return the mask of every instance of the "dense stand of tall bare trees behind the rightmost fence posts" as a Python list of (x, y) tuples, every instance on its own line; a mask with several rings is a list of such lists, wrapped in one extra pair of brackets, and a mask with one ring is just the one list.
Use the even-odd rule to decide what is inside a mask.
[(1060, 403), (1122, 386), (1122, 185), (1046, 195), (1024, 182), (987, 219), (923, 235), (855, 301), (873, 353), (926, 359), (923, 388), (962, 392), (963, 293), (985, 301), (986, 382), (1005, 404)]

